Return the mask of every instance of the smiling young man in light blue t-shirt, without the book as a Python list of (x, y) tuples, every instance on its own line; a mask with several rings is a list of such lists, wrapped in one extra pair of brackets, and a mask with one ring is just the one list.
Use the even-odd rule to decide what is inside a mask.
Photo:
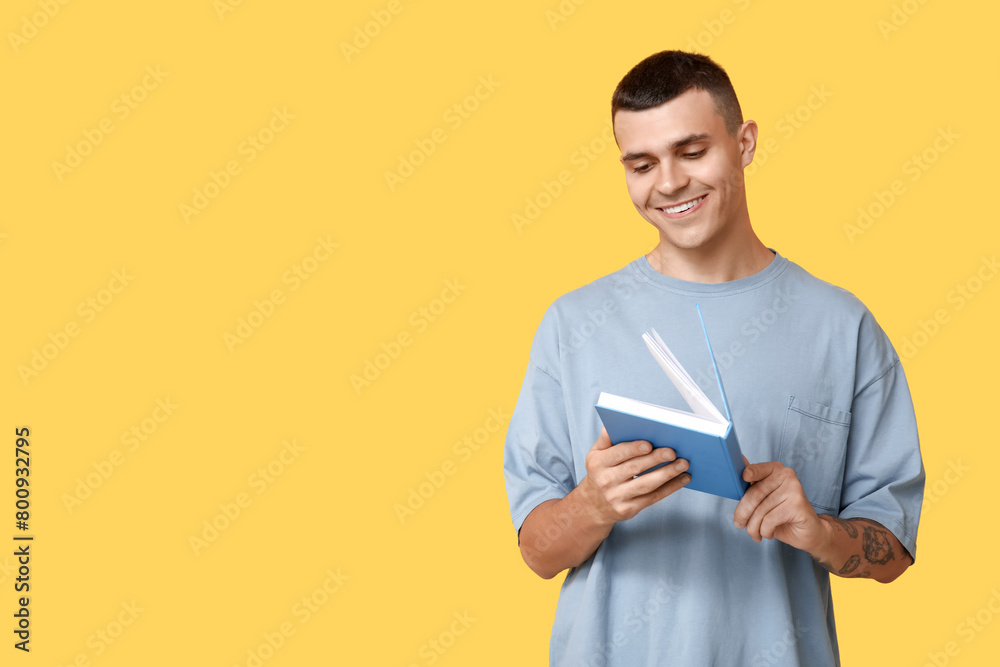
[[(569, 570), (550, 664), (838, 665), (829, 574), (889, 582), (916, 553), (924, 469), (899, 357), (861, 302), (757, 238), (757, 125), (711, 59), (650, 56), (612, 120), (659, 243), (548, 308), (505, 445), (525, 562)], [(650, 328), (721, 406), (696, 303), (752, 462), (739, 502), (684, 490), (669, 448), (612, 446), (594, 410), (601, 391), (687, 409)]]

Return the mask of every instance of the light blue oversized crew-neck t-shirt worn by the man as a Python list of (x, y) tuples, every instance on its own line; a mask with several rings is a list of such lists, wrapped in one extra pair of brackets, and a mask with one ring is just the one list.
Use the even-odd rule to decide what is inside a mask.
[[(688, 409), (644, 331), (723, 409), (696, 303), (744, 455), (781, 461), (817, 512), (878, 521), (915, 556), (924, 468), (899, 357), (858, 299), (780, 255), (719, 284), (643, 257), (548, 308), (505, 444), (514, 527), (586, 476), (600, 392)], [(755, 543), (735, 508), (682, 489), (617, 523), (566, 575), (550, 664), (839, 665), (829, 573), (777, 540)]]

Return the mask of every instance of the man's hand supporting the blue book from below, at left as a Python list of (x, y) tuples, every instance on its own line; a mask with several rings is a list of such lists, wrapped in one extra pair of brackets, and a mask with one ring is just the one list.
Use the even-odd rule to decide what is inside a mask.
[[(667, 465), (639, 475), (660, 463)], [(640, 510), (691, 481), (691, 475), (684, 472), (688, 469), (688, 462), (678, 459), (674, 450), (669, 447), (654, 448), (645, 440), (612, 446), (604, 428), (601, 428), (601, 436), (587, 452), (586, 465), (587, 476), (580, 483), (584, 487), (582, 491), (593, 508), (595, 518), (612, 525), (631, 519)]]

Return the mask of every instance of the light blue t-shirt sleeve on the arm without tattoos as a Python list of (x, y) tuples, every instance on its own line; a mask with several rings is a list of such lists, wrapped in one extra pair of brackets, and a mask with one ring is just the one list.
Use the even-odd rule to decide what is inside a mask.
[(550, 309), (535, 334), (504, 443), (507, 500), (518, 532), (531, 510), (576, 486), (563, 387), (552, 370), (558, 368), (558, 351), (551, 314)]

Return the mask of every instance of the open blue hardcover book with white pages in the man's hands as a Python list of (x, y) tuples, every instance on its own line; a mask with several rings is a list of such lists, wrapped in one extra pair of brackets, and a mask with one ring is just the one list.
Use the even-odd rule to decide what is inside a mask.
[[(726, 391), (722, 387), (722, 378), (715, 364), (715, 355), (712, 354), (712, 344), (708, 340), (700, 307), (698, 318), (701, 319), (705, 342), (708, 343), (708, 353), (719, 383), (725, 415), (705, 396), (655, 329), (651, 334), (644, 333), (642, 339), (660, 368), (684, 397), (691, 412), (606, 392), (601, 392), (595, 407), (612, 443), (647, 440), (653, 447), (671, 447), (678, 458), (685, 459), (690, 464), (687, 472), (691, 475), (691, 481), (684, 488), (739, 500), (749, 486), (743, 481), (743, 454), (736, 439)], [(660, 466), (654, 466), (650, 470), (658, 467)]]

